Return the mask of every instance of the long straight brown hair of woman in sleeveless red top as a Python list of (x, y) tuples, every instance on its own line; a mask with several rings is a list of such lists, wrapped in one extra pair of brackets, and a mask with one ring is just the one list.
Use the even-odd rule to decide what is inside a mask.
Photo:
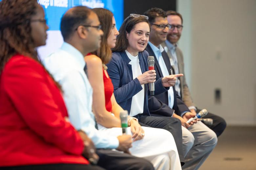
[(112, 51), (108, 46), (108, 36), (112, 29), (113, 13), (104, 8), (94, 8), (92, 10), (98, 15), (101, 30), (104, 32), (101, 38), (100, 48), (93, 54), (96, 54), (96, 56), (101, 59), (103, 64), (107, 64), (112, 57)]

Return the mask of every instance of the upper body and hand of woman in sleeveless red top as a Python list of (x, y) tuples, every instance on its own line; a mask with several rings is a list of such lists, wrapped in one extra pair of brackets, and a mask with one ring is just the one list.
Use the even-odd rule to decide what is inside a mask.
[[(99, 127), (121, 127), (119, 113), (123, 109), (116, 102), (113, 94), (114, 87), (105, 66), (111, 59), (111, 48), (115, 47), (119, 32), (111, 11), (102, 8), (95, 8), (93, 11), (98, 15), (104, 31), (100, 49), (95, 55), (88, 54), (85, 57), (88, 79), (93, 87), (93, 110)], [(102, 97), (102, 94), (105, 97)], [(105, 107), (103, 107), (104, 103)], [(111, 113), (114, 113), (114, 116)], [(134, 141), (144, 137), (144, 130), (135, 119), (129, 119), (128, 124), (131, 126)]]

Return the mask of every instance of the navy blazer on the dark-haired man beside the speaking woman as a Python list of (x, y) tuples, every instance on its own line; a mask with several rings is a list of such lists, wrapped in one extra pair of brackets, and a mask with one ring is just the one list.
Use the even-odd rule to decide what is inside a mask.
[[(159, 78), (163, 77), (163, 74), (162, 74), (160, 65), (159, 65), (159, 63), (158, 63), (158, 60), (157, 60), (157, 58), (156, 58), (156, 56), (155, 56), (154, 51), (152, 50), (152, 48), (150, 47), (149, 44), (147, 45), (146, 50), (147, 50), (147, 52), (149, 53), (150, 56), (154, 56), (154, 58), (155, 58), (155, 65), (154, 65), (154, 67), (155, 67), (156, 74), (157, 74), (156, 80), (158, 80)], [(169, 72), (169, 75), (171, 75), (171, 69), (172, 69), (172, 67), (171, 67), (171, 63), (170, 63), (170, 59), (169, 59), (169, 57), (168, 57), (168, 54), (167, 54), (165, 51), (163, 51), (163, 52), (162, 52), (162, 57), (163, 57), (163, 60), (164, 60), (165, 65), (166, 65), (166, 67), (167, 67), (167, 70), (168, 70), (168, 72)], [(173, 110), (175, 110), (175, 113), (176, 113), (176, 114), (178, 114), (178, 115), (181, 116), (181, 113), (182, 113), (182, 112), (184, 112), (184, 111), (190, 111), (190, 110), (187, 108), (187, 106), (185, 105), (185, 103), (182, 101), (181, 97), (180, 97), (180, 96), (178, 95), (178, 93), (176, 92), (175, 86), (173, 86), (172, 88), (173, 88), (173, 92), (175, 92), (175, 93), (174, 93), (174, 105), (173, 105)], [(165, 105), (167, 105), (167, 106), (169, 105), (169, 101), (168, 101), (168, 92), (167, 92), (167, 91), (164, 92), (164, 93), (155, 95), (155, 97), (156, 97), (157, 99), (159, 99), (159, 100), (160, 100), (162, 103), (164, 103)], [(150, 102), (150, 101), (149, 101), (149, 102)], [(168, 109), (165, 105), (162, 105), (162, 107), (158, 110), (158, 114), (161, 114), (161, 115), (162, 115), (161, 112), (166, 113), (166, 112), (171, 112), (171, 111), (172, 111), (172, 110), (169, 110), (169, 109), (171, 109), (171, 108), (168, 107), (168, 108), (169, 108), (169, 109)]]

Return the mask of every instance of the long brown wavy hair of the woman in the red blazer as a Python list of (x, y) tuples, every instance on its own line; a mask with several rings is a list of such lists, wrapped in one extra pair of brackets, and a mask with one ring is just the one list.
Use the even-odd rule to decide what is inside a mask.
[[(0, 2), (0, 74), (8, 60), (17, 53), (30, 57), (43, 66), (31, 35), (31, 18), (36, 14), (37, 5), (37, 0)], [(45, 69), (44, 66), (43, 68)], [(45, 71), (49, 74), (46, 69)], [(61, 90), (60, 85), (54, 79), (53, 81)]]

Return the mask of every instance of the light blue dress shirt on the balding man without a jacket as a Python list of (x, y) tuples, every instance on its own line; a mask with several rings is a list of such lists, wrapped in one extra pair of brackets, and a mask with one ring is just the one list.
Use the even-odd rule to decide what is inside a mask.
[(64, 91), (69, 120), (75, 129), (83, 130), (96, 148), (117, 148), (117, 137), (105, 135), (95, 128), (93, 89), (84, 72), (85, 61), (81, 52), (64, 42), (59, 50), (43, 60), (43, 64)]

